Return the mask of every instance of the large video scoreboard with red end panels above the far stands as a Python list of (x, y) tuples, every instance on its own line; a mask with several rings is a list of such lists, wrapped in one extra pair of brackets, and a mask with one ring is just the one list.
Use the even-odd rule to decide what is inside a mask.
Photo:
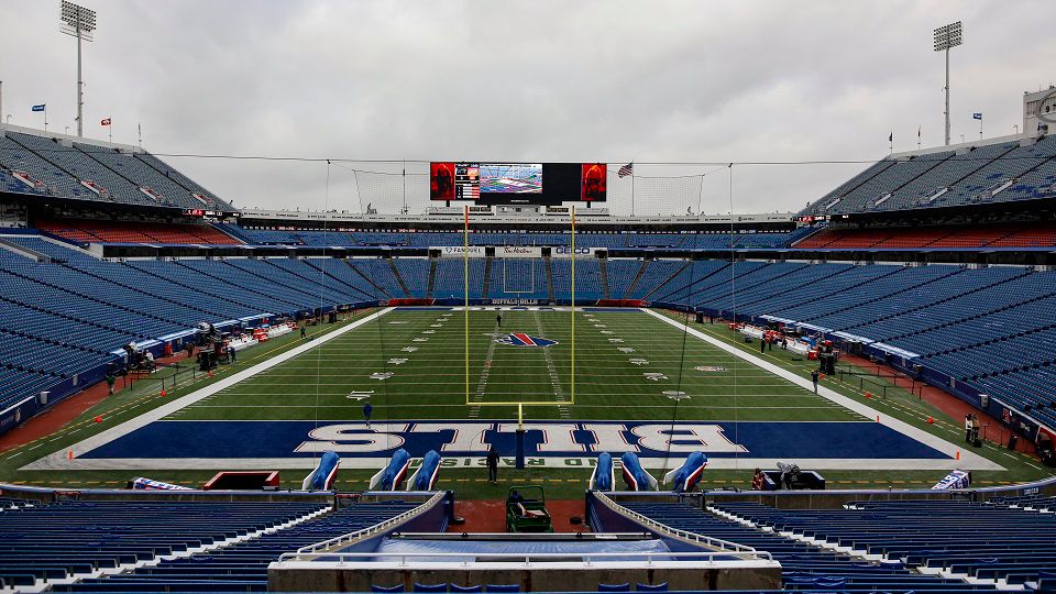
[(472, 200), (482, 205), (604, 202), (604, 163), (468, 163), (429, 165), (431, 200)]

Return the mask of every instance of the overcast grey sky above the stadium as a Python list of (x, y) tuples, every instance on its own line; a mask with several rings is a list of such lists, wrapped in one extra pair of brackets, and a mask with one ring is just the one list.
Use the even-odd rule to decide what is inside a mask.
[[(798, 210), (876, 160), (943, 142), (932, 30), (953, 52), (953, 138), (1013, 133), (1056, 82), (1047, 1), (84, 0), (85, 133), (166, 157), (239, 207), (395, 211), (421, 161), (634, 160), (636, 212)], [(75, 42), (58, 0), (0, 0), (3, 117), (74, 127)], [(392, 163), (371, 163), (389, 160)], [(399, 173), (403, 160), (409, 175)], [(690, 163), (698, 165), (648, 165)], [(329, 176), (328, 176), (329, 174)], [(702, 174), (707, 174), (700, 177)], [(672, 176), (692, 176), (675, 178)], [(328, 183), (329, 177), (329, 183)], [(405, 183), (406, 182), (406, 183)], [(730, 205), (733, 187), (733, 206)], [(610, 207), (630, 210), (630, 184)]]

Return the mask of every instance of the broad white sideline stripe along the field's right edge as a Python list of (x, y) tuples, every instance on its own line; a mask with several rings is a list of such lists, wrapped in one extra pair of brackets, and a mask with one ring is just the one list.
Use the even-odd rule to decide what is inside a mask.
[[(726, 342), (723, 342), (717, 338), (710, 337), (704, 332), (696, 330), (695, 328), (690, 328), (689, 324), (679, 323), (676, 320), (673, 320), (671, 318), (668, 318), (667, 316), (657, 314), (649, 309), (640, 308), (640, 310), (646, 312), (649, 316), (652, 316), (658, 320), (663, 321), (669, 326), (672, 326), (681, 331), (684, 331), (685, 333), (692, 337), (701, 339), (704, 342), (712, 344), (713, 346), (717, 346), (735, 356), (738, 356), (745, 361), (748, 361), (749, 363), (757, 365), (762, 370), (769, 371), (770, 373), (777, 375), (778, 377), (788, 380), (790, 383), (794, 385), (798, 385), (804, 389), (809, 389), (813, 392), (813, 385), (811, 381), (805, 377), (800, 377), (798, 374), (789, 370), (785, 370), (779, 365), (770, 363), (769, 361), (765, 361), (756, 356), (755, 354), (749, 353), (748, 351), (743, 351), (736, 346), (727, 344)], [(921, 443), (930, 446), (935, 450), (938, 450), (939, 452), (943, 452), (944, 454), (948, 455), (949, 458), (955, 458), (959, 455), (959, 460), (964, 466), (970, 466), (972, 470), (999, 470), (999, 471), (1008, 470), (1001, 464), (998, 464), (997, 462), (993, 462), (990, 459), (983, 458), (975, 452), (969, 451), (967, 447), (963, 448), (955, 443), (950, 443), (949, 441), (946, 441), (941, 437), (934, 436), (923, 429), (913, 427), (912, 425), (903, 420), (897, 419), (887, 413), (881, 413), (869, 405), (858, 403), (853, 398), (844, 396), (843, 394), (839, 394), (838, 392), (835, 392), (823, 385), (817, 386), (817, 394), (818, 396), (822, 396), (828, 400), (832, 400), (833, 403), (836, 403), (848, 410), (855, 411), (866, 417), (867, 419), (879, 418), (881, 425), (889, 427), (906, 437), (915, 439)], [(906, 470), (912, 470), (912, 469), (906, 469)]]

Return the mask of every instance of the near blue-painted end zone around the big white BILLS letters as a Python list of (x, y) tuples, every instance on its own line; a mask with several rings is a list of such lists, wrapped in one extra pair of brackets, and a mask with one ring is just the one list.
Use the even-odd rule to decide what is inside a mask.
[[(405, 421), (388, 421), (403, 425)], [(462, 431), (484, 430), (484, 440), (495, 446), (501, 452), (513, 452), (515, 433), (497, 431), (499, 421), (429, 421), (457, 425)], [(512, 421), (502, 421), (512, 425)], [(571, 422), (571, 421), (569, 421)], [(306, 442), (314, 441), (309, 432), (324, 429), (328, 426), (341, 426), (341, 440), (333, 449), (343, 459), (346, 458), (376, 458), (389, 455), (398, 448), (404, 448), (411, 455), (422, 455), (429, 450), (437, 450), (442, 455), (480, 455), (483, 447), (474, 450), (454, 450), (447, 444), (455, 440), (455, 430), (415, 432), (415, 422), (406, 421), (407, 431), (393, 431), (392, 438), (375, 439), (375, 430), (367, 430), (362, 422), (329, 422), (318, 426), (312, 421), (155, 421), (129, 435), (78, 455), (81, 459), (152, 459), (152, 458), (312, 458), (318, 457), (320, 450), (296, 450)], [(536, 424), (539, 425), (539, 424)], [(554, 433), (566, 431), (562, 424), (554, 424)], [(601, 422), (591, 421), (588, 425), (623, 425), (623, 438), (632, 446), (639, 446), (638, 455), (641, 458), (664, 458), (666, 450), (653, 450), (641, 446), (641, 439), (630, 430), (635, 427), (663, 426), (672, 427), (670, 422)], [(710, 449), (697, 438), (688, 435), (685, 426), (708, 426), (722, 429), (723, 437), (729, 442), (739, 444), (741, 451), (734, 453), (730, 448), (724, 451)], [(374, 425), (378, 428), (377, 421)], [(572, 431), (575, 444), (582, 446), (576, 450), (546, 451), (540, 453), (539, 447), (547, 442), (541, 430), (532, 429), (526, 435), (526, 453), (529, 457), (578, 457), (593, 455), (590, 448), (596, 443), (595, 433), (582, 429), (583, 424), (576, 424), (578, 429)], [(787, 459), (949, 459), (934, 448), (915, 439), (902, 435), (894, 429), (878, 422), (763, 422), (750, 421), (734, 424), (722, 422), (676, 422), (673, 425), (672, 443), (675, 446), (692, 446), (707, 453), (708, 458), (769, 458), (773, 460)], [(386, 433), (382, 433), (385, 436)], [(568, 435), (566, 432), (564, 433)], [(362, 438), (359, 438), (362, 436)], [(681, 438), (681, 439), (680, 439)], [(372, 442), (376, 447), (370, 447)], [(551, 441), (553, 443), (553, 441)], [(359, 451), (353, 451), (359, 450)], [(684, 454), (674, 454), (684, 455)]]

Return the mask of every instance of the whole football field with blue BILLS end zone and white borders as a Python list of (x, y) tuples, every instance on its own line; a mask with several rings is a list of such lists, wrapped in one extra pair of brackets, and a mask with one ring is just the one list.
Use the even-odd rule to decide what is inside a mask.
[(664, 469), (703, 451), (713, 469), (1003, 470), (845, 392), (815, 394), (783, 366), (790, 353), (724, 342), (712, 336), (722, 326), (578, 308), (573, 340), (572, 316), (383, 309), (23, 469), (307, 469), (333, 450), (342, 468), (366, 470), (399, 448), (472, 466), (490, 447), (513, 457), (522, 428), (539, 468), (629, 451)]

